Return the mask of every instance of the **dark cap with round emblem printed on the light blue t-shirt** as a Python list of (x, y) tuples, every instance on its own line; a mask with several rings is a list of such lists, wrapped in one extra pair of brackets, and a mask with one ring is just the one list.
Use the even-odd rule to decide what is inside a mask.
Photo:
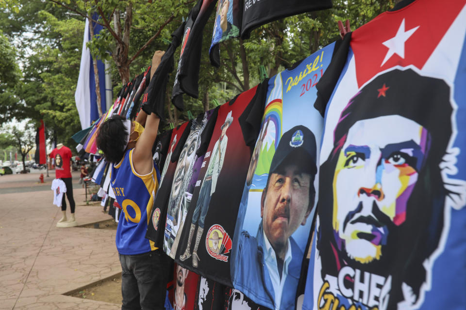
[(316, 137), (309, 128), (298, 125), (285, 132), (273, 155), (268, 175), (276, 172), (283, 163), (292, 163), (302, 172), (315, 175), (317, 146)]

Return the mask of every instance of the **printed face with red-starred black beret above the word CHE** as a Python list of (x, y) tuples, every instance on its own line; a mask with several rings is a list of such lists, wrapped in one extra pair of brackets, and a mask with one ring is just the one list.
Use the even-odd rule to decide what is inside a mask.
[(411, 68), (381, 73), (350, 97), (320, 167), (327, 207), (318, 209), (314, 292), (337, 297), (317, 303), (419, 305), (445, 211), (464, 199), (464, 181), (445, 174), (458, 152), (452, 114), (448, 83)]

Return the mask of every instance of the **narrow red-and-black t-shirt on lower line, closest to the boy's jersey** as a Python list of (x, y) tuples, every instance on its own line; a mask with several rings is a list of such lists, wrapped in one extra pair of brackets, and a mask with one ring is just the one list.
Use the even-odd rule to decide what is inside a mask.
[(175, 173), (176, 162), (180, 155), (177, 150), (177, 146), (178, 144), (184, 144), (187, 135), (189, 134), (190, 127), (191, 121), (173, 128), (165, 165), (163, 170), (160, 171), (161, 176), (159, 188), (155, 195), (152, 211), (150, 212), (150, 221), (146, 233), (146, 238), (152, 240), (157, 248), (162, 248), (164, 243), (166, 206), (171, 193), (171, 184)]

